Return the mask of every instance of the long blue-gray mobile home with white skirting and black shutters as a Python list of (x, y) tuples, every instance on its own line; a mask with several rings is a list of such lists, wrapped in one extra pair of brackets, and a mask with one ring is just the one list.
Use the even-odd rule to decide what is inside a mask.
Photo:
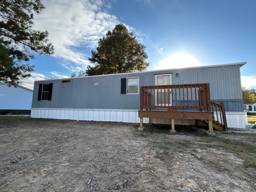
[(215, 119), (219, 127), (227, 122), (245, 128), (240, 79), (245, 64), (35, 81), (31, 117), (189, 125)]

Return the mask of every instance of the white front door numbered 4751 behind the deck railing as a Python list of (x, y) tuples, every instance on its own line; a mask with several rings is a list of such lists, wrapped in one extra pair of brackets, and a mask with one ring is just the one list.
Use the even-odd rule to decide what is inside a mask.
[[(163, 75), (155, 75), (155, 85), (171, 85), (172, 84), (172, 74), (163, 74)], [(161, 103), (161, 92), (162, 92), (162, 103)], [(158, 100), (157, 96), (155, 97), (155, 103), (158, 106), (164, 106), (164, 95), (165, 95), (165, 106), (168, 106), (168, 89), (158, 89), (155, 91), (155, 94), (158, 93)], [(169, 89), (169, 105), (172, 105), (171, 97), (172, 92)]]

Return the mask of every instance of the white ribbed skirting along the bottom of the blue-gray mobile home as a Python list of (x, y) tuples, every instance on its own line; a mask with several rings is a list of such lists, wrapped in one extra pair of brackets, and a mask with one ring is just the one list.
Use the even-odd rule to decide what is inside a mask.
[[(73, 119), (87, 121), (116, 121), (127, 123), (140, 123), (138, 110), (126, 109), (54, 109), (31, 108), (32, 118)], [(227, 124), (230, 128), (245, 128), (247, 115), (245, 112), (226, 112)], [(216, 113), (214, 118), (217, 119)], [(220, 119), (220, 116), (219, 116)], [(143, 118), (143, 123), (148, 123), (148, 118)], [(151, 118), (151, 123), (171, 124), (171, 119)], [(174, 119), (175, 124), (195, 125), (194, 119)], [(205, 125), (198, 121), (198, 125)]]

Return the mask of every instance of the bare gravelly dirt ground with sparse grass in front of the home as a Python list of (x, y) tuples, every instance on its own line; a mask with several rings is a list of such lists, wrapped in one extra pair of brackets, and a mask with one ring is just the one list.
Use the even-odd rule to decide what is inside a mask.
[(136, 126), (1, 117), (0, 191), (256, 191), (256, 134)]

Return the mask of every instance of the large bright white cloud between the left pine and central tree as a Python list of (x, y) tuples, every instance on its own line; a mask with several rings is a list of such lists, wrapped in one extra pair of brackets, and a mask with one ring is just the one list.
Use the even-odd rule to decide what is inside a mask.
[(103, 0), (54, 0), (44, 4), (46, 9), (35, 15), (34, 27), (48, 30), (49, 40), (55, 48), (53, 56), (74, 62), (81, 68), (89, 61), (77, 48), (95, 48), (99, 38), (118, 23), (116, 16), (104, 11), (110, 4)]

